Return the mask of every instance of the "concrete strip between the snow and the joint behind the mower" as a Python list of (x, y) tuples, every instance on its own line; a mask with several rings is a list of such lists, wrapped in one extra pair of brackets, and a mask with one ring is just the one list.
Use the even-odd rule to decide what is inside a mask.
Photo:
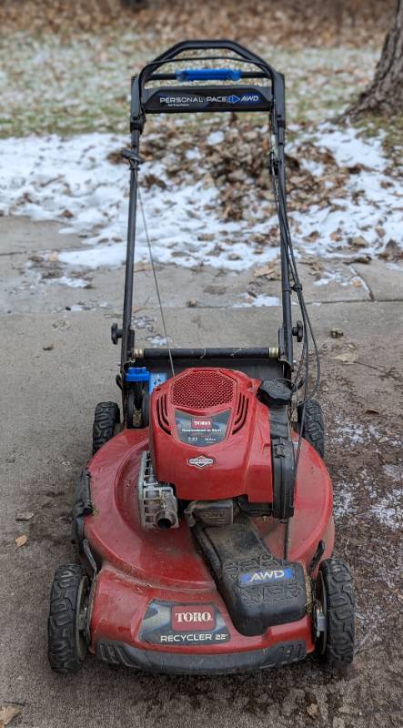
[[(60, 235), (54, 222), (26, 217), (0, 217), (0, 311), (50, 312), (66, 308), (120, 312), (124, 268), (67, 267), (62, 249), (82, 247), (75, 235)], [(276, 265), (273, 278), (276, 277)], [(401, 300), (403, 266), (373, 260), (350, 264), (338, 259), (306, 259), (299, 266), (307, 303)], [(200, 266), (157, 267), (166, 308), (244, 308), (275, 302), (278, 280), (257, 275), (259, 267), (241, 273)], [(269, 297), (269, 298), (267, 298)], [(137, 263), (135, 308), (154, 308), (156, 291), (148, 263)]]

